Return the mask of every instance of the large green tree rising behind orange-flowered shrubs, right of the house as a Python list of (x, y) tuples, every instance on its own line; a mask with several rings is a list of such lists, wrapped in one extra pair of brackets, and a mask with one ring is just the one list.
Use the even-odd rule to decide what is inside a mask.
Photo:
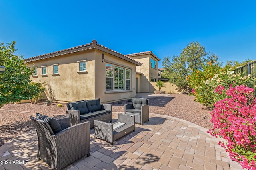
[(164, 78), (175, 84), (181, 92), (190, 93), (188, 84), (188, 75), (194, 70), (202, 70), (206, 63), (219, 63), (218, 56), (214, 53), (206, 53), (204, 46), (198, 42), (190, 42), (184, 48), (179, 56), (164, 57), (162, 65), (164, 66)]

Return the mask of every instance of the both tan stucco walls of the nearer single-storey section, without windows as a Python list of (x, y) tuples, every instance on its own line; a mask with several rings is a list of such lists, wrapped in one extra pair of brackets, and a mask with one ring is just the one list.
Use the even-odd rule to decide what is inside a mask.
[[(46, 81), (53, 90), (56, 101), (59, 102), (100, 98), (100, 102), (107, 103), (134, 97), (136, 95), (136, 65), (105, 52), (102, 62), (101, 53), (102, 51), (98, 49), (89, 49), (30, 62), (28, 66), (32, 67), (34, 64), (37, 67), (38, 75), (37, 77), (33, 76), (31, 79), (34, 82)], [(77, 61), (82, 60), (87, 60), (87, 74), (78, 74), (79, 63)], [(131, 68), (131, 90), (129, 92), (105, 92), (105, 60)], [(59, 76), (52, 76), (53, 64), (58, 64)], [(42, 76), (41, 66), (46, 65), (47, 76)], [(46, 95), (49, 99), (48, 86), (46, 86)]]

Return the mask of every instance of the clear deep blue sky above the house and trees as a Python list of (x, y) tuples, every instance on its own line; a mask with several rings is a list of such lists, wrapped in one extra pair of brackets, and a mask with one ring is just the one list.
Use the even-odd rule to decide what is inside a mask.
[(25, 59), (93, 39), (122, 54), (152, 51), (160, 59), (192, 41), (224, 64), (256, 59), (255, 0), (1, 0), (0, 16), (0, 42), (16, 41)]

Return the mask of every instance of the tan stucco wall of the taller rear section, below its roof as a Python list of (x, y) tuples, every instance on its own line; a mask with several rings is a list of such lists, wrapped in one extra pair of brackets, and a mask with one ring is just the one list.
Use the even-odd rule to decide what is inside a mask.
[[(150, 54), (137, 55), (130, 58), (139, 61), (140, 63), (143, 63), (142, 66), (136, 66), (136, 71), (143, 74), (142, 76), (140, 76), (140, 92), (154, 92), (154, 87), (150, 84), (150, 78), (158, 78), (158, 60)], [(156, 61), (156, 69), (150, 66), (150, 58)]]

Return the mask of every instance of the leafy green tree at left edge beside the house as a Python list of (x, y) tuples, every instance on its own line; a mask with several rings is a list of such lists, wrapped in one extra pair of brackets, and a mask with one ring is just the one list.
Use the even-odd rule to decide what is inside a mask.
[(30, 100), (45, 90), (40, 83), (30, 80), (35, 72), (24, 63), (22, 55), (15, 54), (15, 41), (0, 42), (0, 65), (6, 70), (0, 74), (0, 108), (4, 104)]

